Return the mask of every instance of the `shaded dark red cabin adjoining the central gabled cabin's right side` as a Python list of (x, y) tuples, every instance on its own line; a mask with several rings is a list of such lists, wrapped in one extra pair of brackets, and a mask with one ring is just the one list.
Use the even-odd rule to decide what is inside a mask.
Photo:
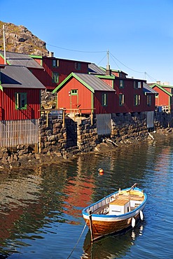
[(113, 105), (116, 113), (134, 113), (155, 110), (154, 90), (146, 85), (146, 80), (127, 78), (127, 73), (120, 70), (98, 69), (89, 65), (89, 72), (97, 75), (107, 85), (116, 90)]

